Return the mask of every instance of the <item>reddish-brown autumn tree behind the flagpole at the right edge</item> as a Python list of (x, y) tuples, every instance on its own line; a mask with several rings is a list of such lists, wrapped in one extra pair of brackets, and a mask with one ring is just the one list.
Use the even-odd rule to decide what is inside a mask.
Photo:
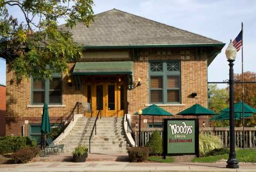
[[(242, 74), (235, 74), (236, 81), (242, 81)], [(244, 72), (244, 81), (256, 81), (255, 72)], [(256, 84), (244, 84), (244, 102), (256, 108)], [(234, 101), (242, 102), (242, 84), (234, 85)]]

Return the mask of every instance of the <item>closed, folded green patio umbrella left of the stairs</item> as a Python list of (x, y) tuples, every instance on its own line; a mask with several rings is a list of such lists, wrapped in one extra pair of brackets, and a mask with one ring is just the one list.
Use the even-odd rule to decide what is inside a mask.
[(48, 113), (48, 105), (44, 103), (43, 116), (41, 122), (41, 133), (44, 135), (44, 150), (45, 150), (45, 135), (51, 132), (50, 119)]

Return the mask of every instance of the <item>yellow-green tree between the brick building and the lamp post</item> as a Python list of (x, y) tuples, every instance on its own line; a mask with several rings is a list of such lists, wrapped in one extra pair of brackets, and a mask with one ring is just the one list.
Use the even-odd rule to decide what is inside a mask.
[(228, 108), (229, 93), (227, 88), (218, 88), (216, 84), (209, 85), (209, 108), (216, 113)]

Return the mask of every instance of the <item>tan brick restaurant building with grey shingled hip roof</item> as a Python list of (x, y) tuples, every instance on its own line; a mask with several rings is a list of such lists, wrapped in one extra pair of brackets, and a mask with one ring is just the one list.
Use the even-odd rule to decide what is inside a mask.
[(51, 81), (23, 79), (17, 86), (7, 72), (6, 135), (35, 136), (44, 102), (52, 123), (76, 102), (88, 102), (93, 117), (99, 110), (103, 117), (122, 117), (128, 109), (133, 126), (133, 114), (153, 103), (173, 114), (195, 103), (207, 107), (207, 67), (222, 42), (116, 9), (96, 14), (88, 28), (60, 29), (72, 32), (84, 58), (69, 63), (71, 76), (55, 73)]

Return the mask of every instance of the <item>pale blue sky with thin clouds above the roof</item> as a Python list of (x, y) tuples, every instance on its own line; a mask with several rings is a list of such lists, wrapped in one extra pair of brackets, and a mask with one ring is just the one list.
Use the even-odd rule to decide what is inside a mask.
[[(244, 71), (256, 72), (256, 1), (252, 0), (95, 0), (94, 13), (119, 9), (177, 28), (195, 32), (226, 43), (222, 52), (208, 67), (208, 81), (228, 79), (225, 50), (230, 39), (235, 39), (244, 23)], [(17, 9), (10, 14), (22, 20)], [(60, 22), (60, 24), (63, 22)], [(237, 53), (234, 72), (242, 72), (241, 50)], [(0, 84), (5, 85), (5, 61), (0, 60)], [(226, 84), (219, 84), (226, 87)]]

